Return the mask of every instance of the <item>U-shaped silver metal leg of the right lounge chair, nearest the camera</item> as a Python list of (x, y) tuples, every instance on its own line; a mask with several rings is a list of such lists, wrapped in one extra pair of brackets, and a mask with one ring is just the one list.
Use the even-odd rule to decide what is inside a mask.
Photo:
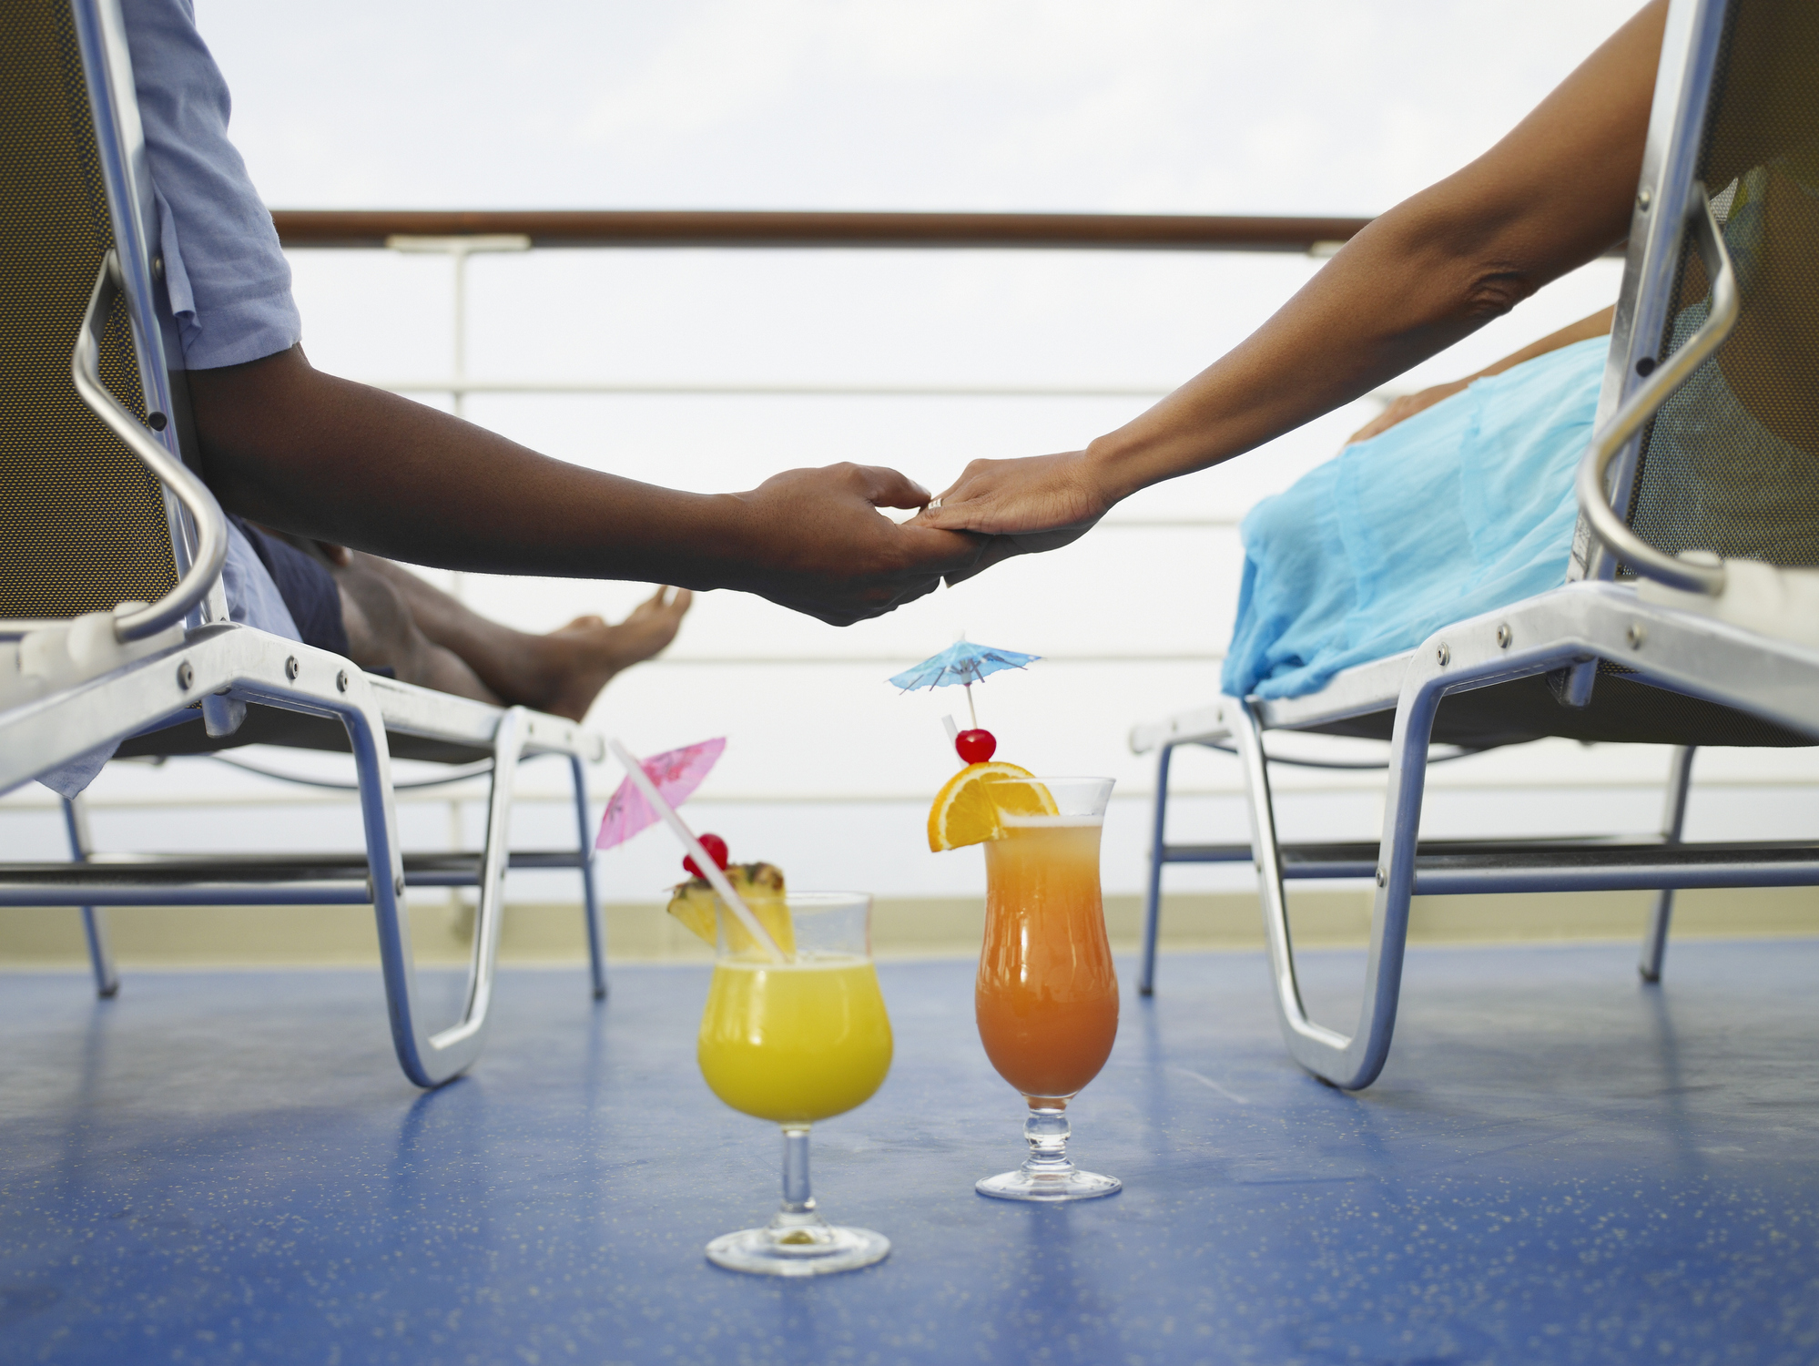
[(1244, 764), (1250, 793), (1251, 851), (1257, 860), (1264, 935), (1270, 944), (1270, 980), (1275, 986), (1277, 1020), (1290, 1055), (1315, 1077), (1348, 1091), (1377, 1080), (1390, 1057), (1395, 1008), (1402, 989), (1402, 951), (1408, 946), (1408, 904), (1415, 888), (1415, 837), (1421, 828), (1421, 797), (1426, 784), (1428, 737), (1439, 691), (1404, 695), (1390, 742), (1390, 789), (1384, 800), (1382, 846), (1377, 857), (1377, 900), (1372, 909), (1370, 957), (1364, 966), (1364, 1002), (1359, 1026), (1346, 1037), (1308, 1019), (1295, 977), (1295, 949), (1288, 929), (1288, 895), (1282, 884), (1282, 853), (1275, 835), (1270, 769), (1262, 753), (1257, 715), (1239, 702), (1233, 738)]

